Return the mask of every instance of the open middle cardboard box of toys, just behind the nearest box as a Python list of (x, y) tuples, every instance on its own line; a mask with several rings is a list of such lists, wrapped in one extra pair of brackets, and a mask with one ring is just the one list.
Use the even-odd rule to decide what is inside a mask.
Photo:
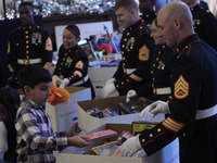
[[(93, 106), (99, 106), (100, 109), (110, 106), (112, 110), (117, 112), (118, 103), (124, 102), (125, 100), (126, 96), (80, 101), (77, 103), (78, 122), (81, 124), (84, 129), (89, 133), (94, 128), (107, 123), (131, 124), (133, 121), (141, 121), (139, 113), (99, 118), (91, 116), (86, 112), (88, 109), (91, 109)], [(164, 118), (165, 118), (164, 114), (158, 114), (151, 121), (162, 122)]]

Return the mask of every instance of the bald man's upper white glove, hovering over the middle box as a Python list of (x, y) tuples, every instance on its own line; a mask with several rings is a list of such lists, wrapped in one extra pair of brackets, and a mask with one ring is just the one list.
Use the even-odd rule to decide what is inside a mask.
[(154, 117), (158, 113), (169, 114), (169, 106), (167, 102), (164, 101), (155, 101), (152, 104), (148, 105), (142, 110), (140, 116), (143, 120), (150, 120), (150, 117)]

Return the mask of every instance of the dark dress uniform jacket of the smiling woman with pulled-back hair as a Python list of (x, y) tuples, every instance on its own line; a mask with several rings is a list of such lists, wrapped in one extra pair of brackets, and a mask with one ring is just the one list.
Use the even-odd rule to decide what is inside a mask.
[[(88, 65), (89, 60), (82, 48), (76, 46), (72, 49), (65, 49), (62, 45), (53, 75), (67, 78), (68, 85), (91, 88), (92, 98), (94, 98), (93, 86), (88, 77)], [(81, 73), (81, 77), (77, 72)]]

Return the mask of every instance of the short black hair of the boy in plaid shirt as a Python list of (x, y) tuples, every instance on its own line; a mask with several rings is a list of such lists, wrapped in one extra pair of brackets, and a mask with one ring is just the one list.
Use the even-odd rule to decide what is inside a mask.
[(23, 90), (25, 86), (29, 86), (34, 89), (35, 86), (40, 83), (52, 82), (52, 76), (50, 72), (42, 66), (30, 64), (21, 70), (18, 82)]

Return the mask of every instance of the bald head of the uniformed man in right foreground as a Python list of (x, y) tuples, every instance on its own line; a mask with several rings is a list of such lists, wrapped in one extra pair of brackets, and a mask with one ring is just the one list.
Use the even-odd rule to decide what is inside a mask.
[[(162, 29), (168, 46), (180, 42), (182, 37), (193, 33), (192, 14), (189, 7), (180, 1), (166, 4), (157, 15), (157, 25)], [(173, 37), (171, 37), (173, 36)]]

